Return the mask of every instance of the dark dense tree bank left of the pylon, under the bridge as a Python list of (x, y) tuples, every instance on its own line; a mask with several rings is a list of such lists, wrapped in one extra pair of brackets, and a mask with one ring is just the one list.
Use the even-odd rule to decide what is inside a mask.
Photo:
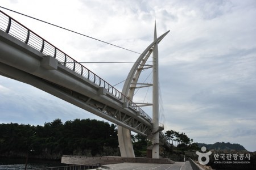
[[(90, 119), (76, 119), (64, 124), (56, 119), (44, 126), (0, 124), (0, 156), (10, 153), (26, 155), (31, 148), (35, 150), (35, 157), (44, 155), (49, 159), (73, 154), (117, 156), (117, 129), (108, 122)], [(105, 148), (108, 148), (108, 153)], [(53, 155), (59, 156), (53, 158)]]

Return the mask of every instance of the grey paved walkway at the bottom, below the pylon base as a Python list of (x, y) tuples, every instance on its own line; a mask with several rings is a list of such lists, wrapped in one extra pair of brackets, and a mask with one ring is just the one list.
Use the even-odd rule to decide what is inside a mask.
[(175, 162), (174, 164), (149, 164), (149, 163), (119, 163), (102, 165), (97, 170), (114, 169), (114, 170), (192, 170), (191, 164), (187, 162)]

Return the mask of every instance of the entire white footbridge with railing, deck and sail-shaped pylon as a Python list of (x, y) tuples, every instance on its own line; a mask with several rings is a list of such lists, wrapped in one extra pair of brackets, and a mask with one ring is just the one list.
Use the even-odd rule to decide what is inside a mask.
[[(159, 136), (164, 138), (164, 135), (161, 132), (163, 126), (159, 126), (158, 122), (158, 86), (154, 84), (158, 84), (158, 43), (168, 32), (157, 37), (155, 29), (154, 41), (134, 63), (120, 92), (68, 54), (0, 11), (0, 75), (30, 84), (117, 124), (122, 157), (134, 157), (131, 143), (131, 131), (134, 131), (152, 141), (152, 156), (158, 158)], [(151, 53), (155, 64), (147, 65)], [(141, 71), (152, 67), (157, 83), (138, 83)], [(153, 118), (133, 102), (138, 84), (141, 87), (153, 86), (153, 91), (155, 89)]]

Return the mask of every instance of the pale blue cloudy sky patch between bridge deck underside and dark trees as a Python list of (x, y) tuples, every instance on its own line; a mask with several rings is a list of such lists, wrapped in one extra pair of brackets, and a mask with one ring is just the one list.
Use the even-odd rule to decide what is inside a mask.
[[(60, 118), (63, 122), (75, 118), (93, 118), (93, 114), (77, 108), (55, 96), (42, 92), (30, 85), (0, 77), (1, 83), (11, 90), (0, 86), (1, 123), (43, 125)], [(3, 88), (2, 88), (3, 87)], [(3, 92), (2, 92), (3, 91)], [(98, 117), (97, 119), (102, 120)]]

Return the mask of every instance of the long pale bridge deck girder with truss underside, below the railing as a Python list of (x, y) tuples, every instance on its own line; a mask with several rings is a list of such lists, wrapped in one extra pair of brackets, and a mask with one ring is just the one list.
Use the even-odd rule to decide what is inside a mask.
[(30, 84), (136, 133), (151, 132), (152, 124), (129, 103), (1, 30), (0, 75)]

